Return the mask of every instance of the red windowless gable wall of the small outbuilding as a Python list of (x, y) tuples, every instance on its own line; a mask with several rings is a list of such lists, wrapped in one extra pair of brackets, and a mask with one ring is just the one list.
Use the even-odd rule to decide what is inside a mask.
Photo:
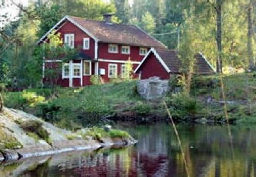
[(165, 68), (158, 61), (153, 53), (148, 55), (148, 58), (140, 67), (138, 73), (141, 72), (141, 79), (148, 79), (150, 77), (160, 77), (160, 79), (169, 79), (170, 75), (166, 72)]

